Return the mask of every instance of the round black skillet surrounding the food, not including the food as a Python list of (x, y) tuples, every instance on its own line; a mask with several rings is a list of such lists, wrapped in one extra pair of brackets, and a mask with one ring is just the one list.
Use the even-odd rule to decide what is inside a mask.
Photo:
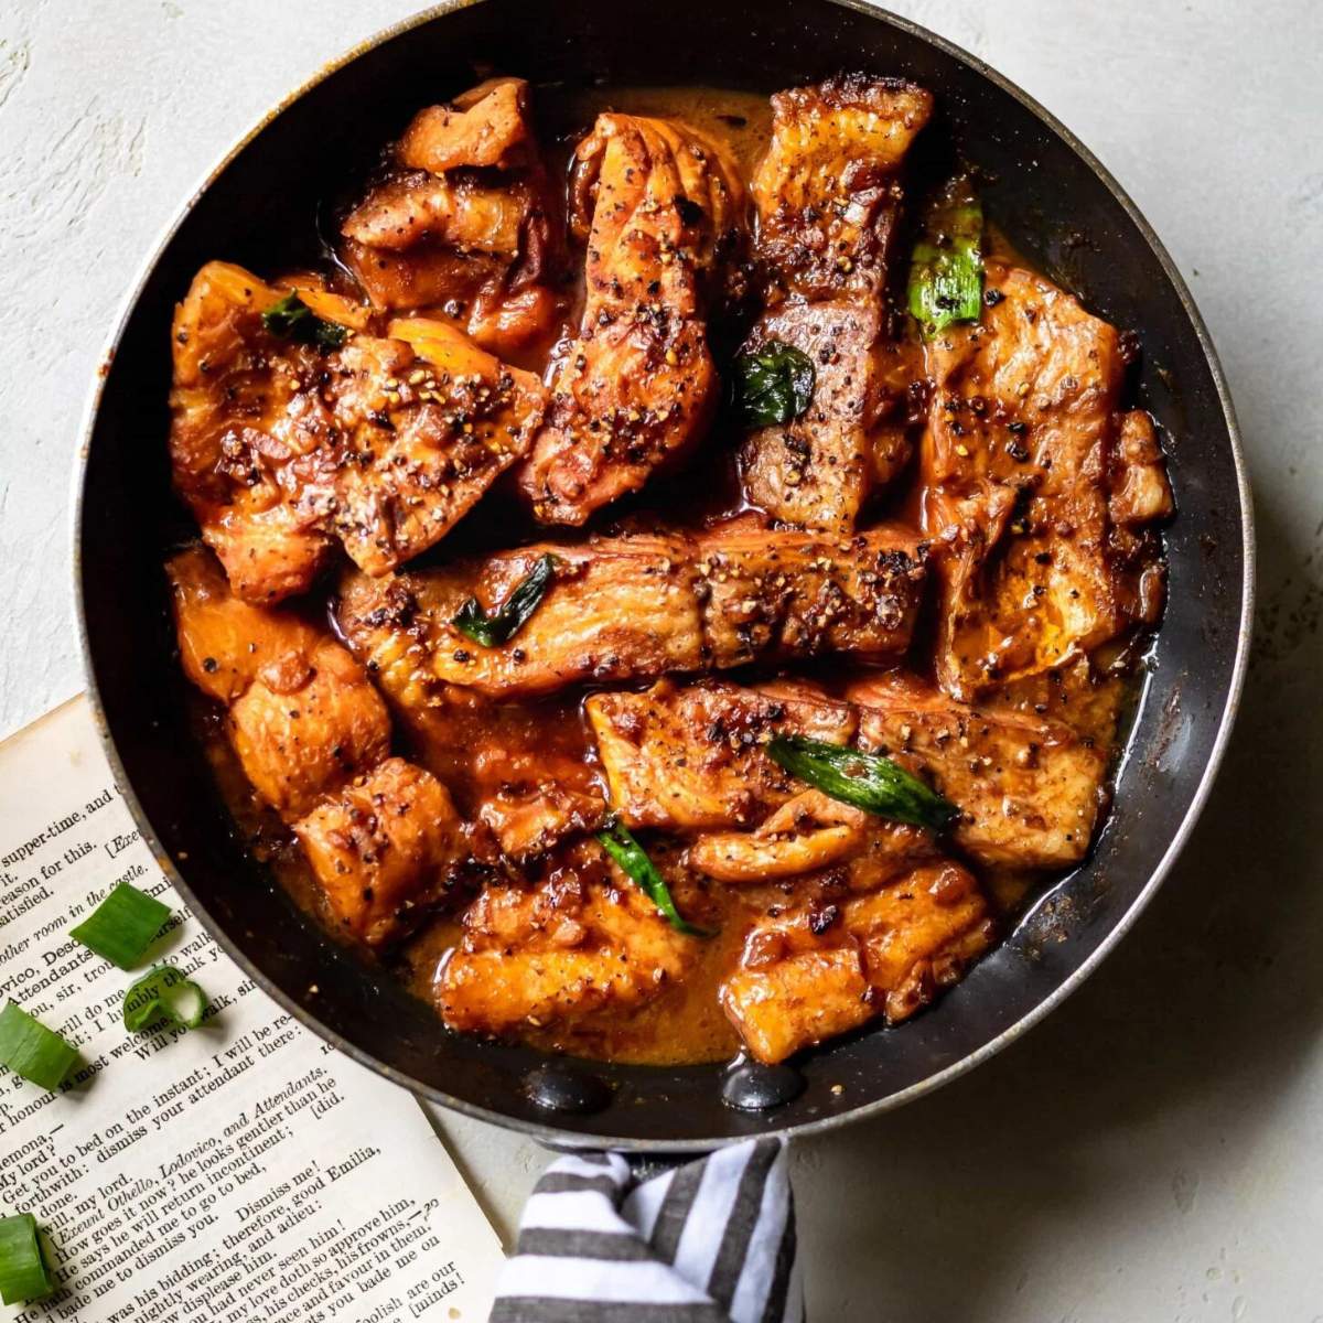
[[(841, 69), (912, 78), (937, 95), (929, 136), (979, 167), (990, 214), (1011, 239), (1142, 336), (1136, 397), (1162, 425), (1179, 517), (1167, 536), (1170, 605), (1106, 831), (1090, 860), (934, 1008), (807, 1053), (792, 1069), (594, 1065), (446, 1033), (389, 975), (327, 941), (243, 853), (188, 734), (161, 574), (180, 533), (165, 458), (175, 300), (210, 258), (275, 270), (274, 245), (308, 233), (327, 180), (487, 67), (569, 87), (761, 93)], [(111, 761), (163, 867), (239, 966), (329, 1043), (439, 1103), (553, 1144), (635, 1151), (807, 1134), (898, 1106), (1064, 1000), (1134, 922), (1204, 803), (1240, 695), (1253, 590), (1226, 384), (1147, 222), (1004, 78), (913, 24), (836, 0), (448, 4), (328, 69), (210, 176), (128, 303), (93, 402), (75, 540), (83, 648)], [(749, 1110), (755, 1103), (769, 1105)]]

